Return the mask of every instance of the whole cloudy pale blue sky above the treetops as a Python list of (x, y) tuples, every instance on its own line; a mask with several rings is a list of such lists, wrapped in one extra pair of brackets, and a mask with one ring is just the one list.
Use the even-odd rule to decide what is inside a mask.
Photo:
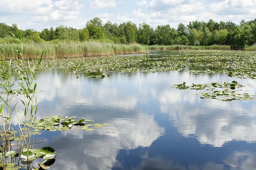
[(256, 18), (256, 0), (0, 0), (0, 22), (16, 23), (23, 30), (84, 28), (94, 17), (103, 24), (146, 22), (153, 28), (169, 24), (176, 29), (181, 22), (209, 19), (239, 24)]

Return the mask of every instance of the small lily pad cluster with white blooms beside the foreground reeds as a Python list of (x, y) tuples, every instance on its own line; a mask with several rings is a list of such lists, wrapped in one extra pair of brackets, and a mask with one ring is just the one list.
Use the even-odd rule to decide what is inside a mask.
[(49, 131), (62, 131), (62, 130), (70, 130), (73, 126), (79, 126), (79, 128), (75, 129), (84, 129), (87, 131), (94, 130), (93, 128), (102, 128), (102, 126), (110, 125), (108, 123), (105, 124), (90, 124), (89, 122), (94, 122), (91, 119), (80, 119), (75, 120), (75, 116), (68, 117), (65, 116), (45, 116), (42, 119), (28, 123), (27, 126), (31, 126), (34, 128), (33, 133), (39, 133), (41, 130), (49, 130)]

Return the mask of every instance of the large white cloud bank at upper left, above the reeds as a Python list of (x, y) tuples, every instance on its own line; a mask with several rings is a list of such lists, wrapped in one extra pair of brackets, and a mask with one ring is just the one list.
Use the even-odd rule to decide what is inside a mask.
[[(14, 22), (23, 22), (23, 24), (25, 22), (26, 27), (33, 29), (39, 25), (54, 26), (52, 22), (56, 24), (57, 22), (75, 20), (83, 9), (83, 4), (75, 0), (14, 0), (12, 3), (0, 1), (0, 6), (0, 13), (3, 18), (11, 15), (12, 20), (15, 20)], [(2, 17), (0, 19), (2, 20)], [(18, 25), (20, 24), (18, 23)]]

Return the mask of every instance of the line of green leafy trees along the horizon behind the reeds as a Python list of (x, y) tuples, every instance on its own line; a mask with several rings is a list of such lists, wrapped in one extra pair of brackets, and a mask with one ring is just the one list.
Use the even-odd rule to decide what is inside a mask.
[[(16, 24), (9, 26), (0, 23), (0, 38), (11, 36), (18, 29)], [(60, 25), (41, 32), (33, 29), (22, 30), (23, 36), (35, 42), (51, 40), (99, 40), (120, 44), (139, 43), (145, 45), (230, 45), (234, 49), (243, 49), (256, 42), (256, 19), (242, 20), (239, 25), (234, 22), (192, 21), (188, 25), (178, 24), (178, 28), (157, 25), (154, 29), (145, 22), (139, 27), (131, 21), (121, 24), (110, 21), (102, 24), (100, 18), (87, 21), (84, 28), (76, 29)]]

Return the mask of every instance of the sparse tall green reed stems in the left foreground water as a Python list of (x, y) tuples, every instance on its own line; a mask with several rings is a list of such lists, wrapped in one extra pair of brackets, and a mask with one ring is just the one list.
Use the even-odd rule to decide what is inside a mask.
[[(17, 48), (11, 52), (13, 52), (13, 55), (22, 57), (24, 54), (23, 35), (22, 32), (19, 33), (18, 31), (17, 35), (17, 37), (13, 35), (18, 41), (18, 44), (15, 44), (15, 47)], [(20, 155), (26, 153), (27, 160), (31, 160), (29, 150), (33, 148), (33, 134), (31, 126), (25, 125), (32, 124), (38, 108), (35, 95), (37, 87), (37, 72), (35, 69), (39, 69), (42, 54), (43, 53), (41, 53), (41, 57), (38, 59), (37, 68), (35, 68), (35, 66), (32, 67), (29, 64), (28, 70), (23, 69), (22, 60), (17, 61), (21, 63), (21, 66), (18, 66), (17, 62), (13, 63), (12, 60), (0, 60), (0, 72), (2, 74), (2, 81), (0, 83), (0, 157), (2, 159), (0, 159), (0, 169), (20, 169), (20, 166), (16, 165), (18, 151), (20, 151)], [(13, 75), (13, 72), (11, 71), (12, 64), (16, 65), (19, 75)], [(21, 102), (23, 108), (17, 107), (18, 102)], [(20, 112), (23, 114), (20, 114)], [(21, 122), (24, 127), (18, 123), (18, 128), (14, 128), (12, 117), (16, 117), (18, 122)], [(15, 141), (16, 147), (14, 148), (11, 145), (12, 140)], [(26, 147), (27, 152), (24, 152), (24, 149), (22, 149), (24, 146)], [(20, 163), (20, 159), (18, 160), (18, 163)]]

